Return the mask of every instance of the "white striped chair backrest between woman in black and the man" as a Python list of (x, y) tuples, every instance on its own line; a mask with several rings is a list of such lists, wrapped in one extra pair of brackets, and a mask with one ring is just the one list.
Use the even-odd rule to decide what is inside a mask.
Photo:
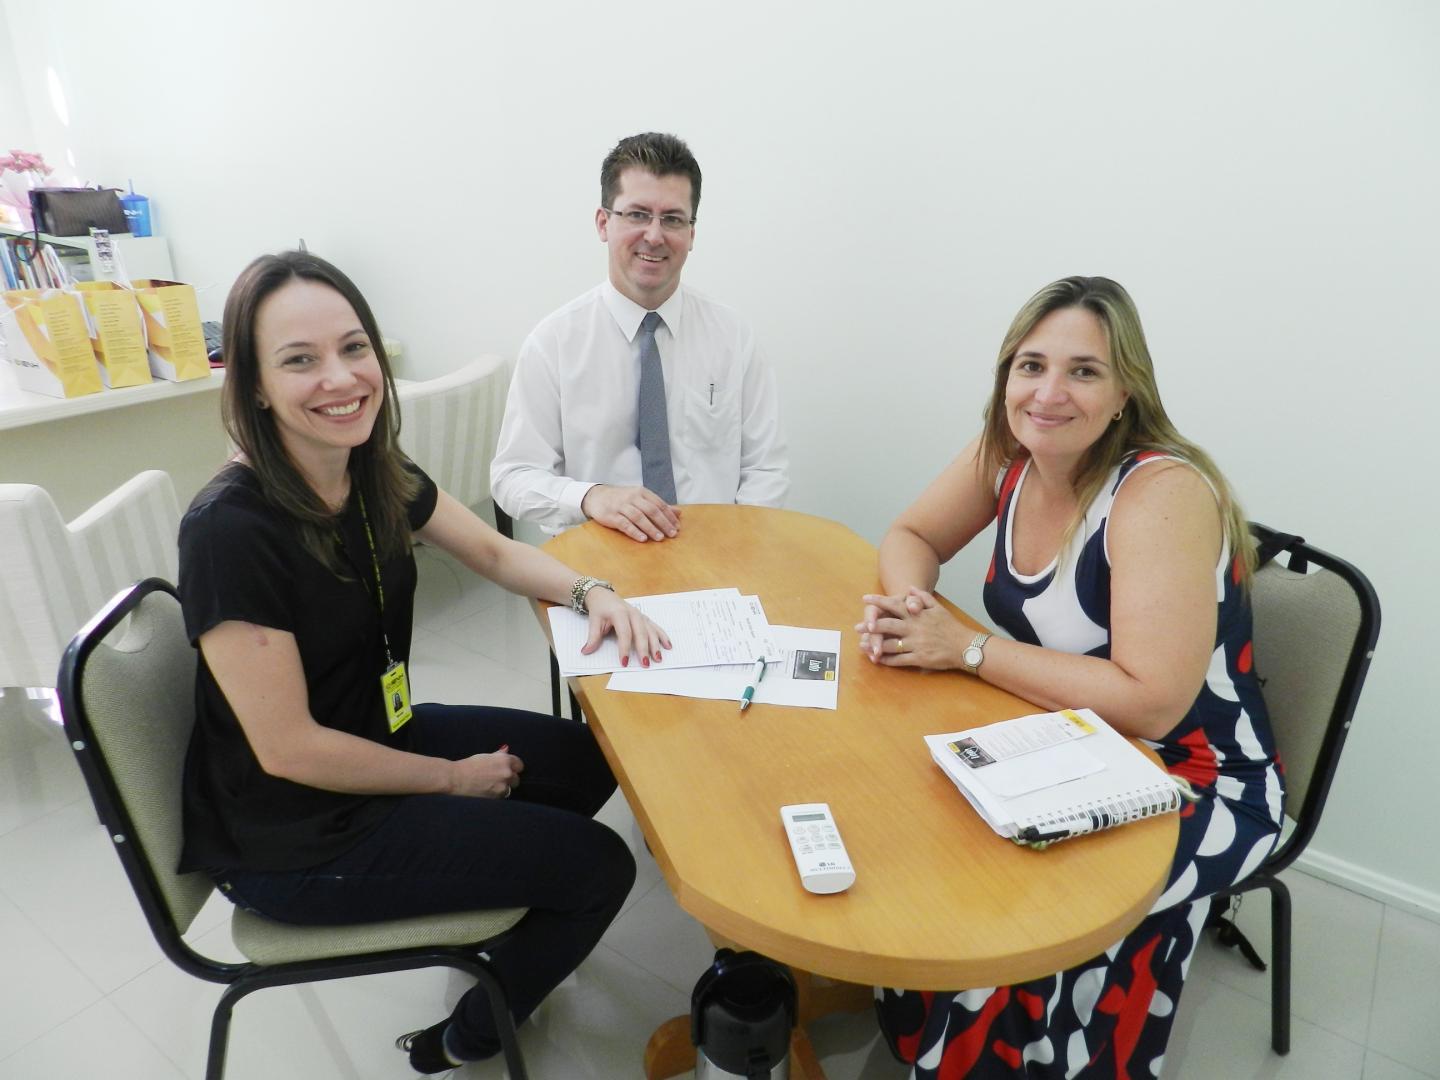
[(438, 379), (396, 387), (400, 449), (468, 507), (490, 497), (490, 459), (505, 412), (507, 376), (504, 361), (487, 356)]

